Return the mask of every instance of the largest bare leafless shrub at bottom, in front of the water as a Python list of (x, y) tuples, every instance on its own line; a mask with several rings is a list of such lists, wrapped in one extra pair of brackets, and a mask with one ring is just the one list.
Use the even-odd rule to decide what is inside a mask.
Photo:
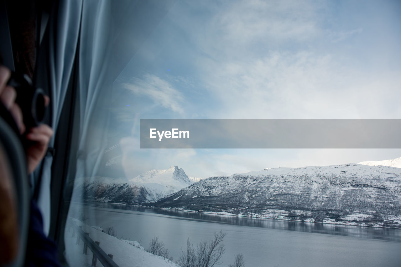
[(225, 248), (221, 244), (225, 237), (223, 231), (215, 232), (213, 240), (203, 240), (198, 243), (196, 250), (189, 238), (186, 242), (186, 253), (182, 251), (178, 261), (182, 267), (213, 267), (219, 265), (219, 260), (224, 254)]

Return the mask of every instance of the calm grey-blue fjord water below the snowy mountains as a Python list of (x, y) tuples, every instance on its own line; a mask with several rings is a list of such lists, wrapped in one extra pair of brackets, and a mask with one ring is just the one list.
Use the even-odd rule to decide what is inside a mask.
[[(188, 237), (194, 244), (213, 239), (222, 230), (225, 254), (222, 264), (244, 255), (253, 266), (401, 266), (401, 230), (302, 223), (213, 215), (184, 211), (146, 209), (107, 203), (73, 204), (85, 209), (86, 223), (106, 229), (117, 237), (140, 241), (147, 248), (158, 236), (177, 260)], [(73, 206), (72, 205), (72, 206)], [(77, 208), (71, 209), (79, 217)]]

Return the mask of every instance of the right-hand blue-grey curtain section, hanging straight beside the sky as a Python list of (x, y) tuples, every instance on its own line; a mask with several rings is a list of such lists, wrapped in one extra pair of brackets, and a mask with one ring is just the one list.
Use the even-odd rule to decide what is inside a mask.
[(113, 23), (110, 1), (85, 1), (79, 46), (77, 178), (95, 176), (106, 149)]

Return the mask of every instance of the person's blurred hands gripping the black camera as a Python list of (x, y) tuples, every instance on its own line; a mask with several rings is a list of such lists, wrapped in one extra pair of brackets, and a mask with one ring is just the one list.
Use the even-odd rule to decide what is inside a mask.
[[(31, 173), (36, 169), (39, 162), (45, 156), (47, 146), (53, 135), (53, 130), (46, 124), (41, 124), (34, 128), (25, 129), (24, 121), (22, 118), (22, 111), (18, 104), (15, 103), (16, 91), (12, 86), (7, 85), (7, 81), (10, 78), (10, 70), (4, 66), (0, 66), (0, 100), (4, 106), (8, 109), (12, 117), (14, 118), (20, 133), (26, 133), (25, 137), (29, 141), (34, 141), (33, 145), (26, 148), (26, 161), (28, 167), (28, 173)], [(50, 102), (48, 96), (45, 96), (45, 105), (47, 106)]]

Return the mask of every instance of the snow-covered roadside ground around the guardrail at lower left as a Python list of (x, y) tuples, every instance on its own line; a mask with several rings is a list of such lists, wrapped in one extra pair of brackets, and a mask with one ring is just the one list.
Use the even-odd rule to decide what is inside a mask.
[[(81, 221), (69, 218), (68, 223), (77, 223), (82, 226), (85, 233), (89, 233), (89, 237), (93, 241), (100, 242), (99, 246), (105, 253), (113, 255), (113, 261), (120, 267), (179, 267), (172, 261), (163, 257), (153, 255), (137, 242), (119, 239), (111, 235), (107, 235), (98, 230), (98, 227), (91, 227)], [(77, 234), (72, 237), (72, 229), (67, 226), (65, 231), (65, 257), (69, 266), (90, 267), (92, 263), (93, 253), (88, 248), (87, 255), (83, 254), (83, 241), (80, 240), (79, 245), (76, 244)], [(97, 261), (96, 266), (103, 266), (100, 261)]]

